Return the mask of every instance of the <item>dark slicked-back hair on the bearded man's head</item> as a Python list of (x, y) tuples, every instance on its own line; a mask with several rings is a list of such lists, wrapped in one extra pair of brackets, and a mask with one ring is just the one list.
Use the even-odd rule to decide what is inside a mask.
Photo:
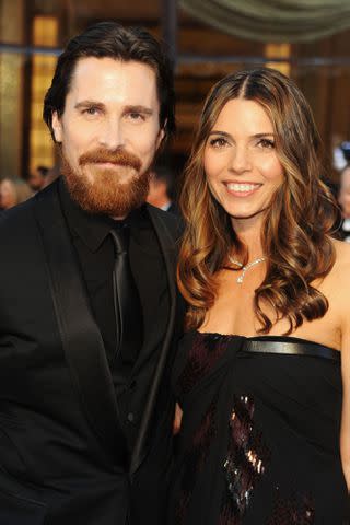
[(51, 86), (45, 96), (43, 112), (54, 141), (52, 113), (57, 112), (59, 117), (62, 116), (77, 62), (88, 57), (108, 57), (125, 62), (132, 60), (152, 68), (156, 77), (160, 126), (165, 131), (165, 138), (175, 131), (173, 70), (162, 45), (141, 27), (124, 27), (117, 22), (100, 22), (74, 36), (58, 58)]

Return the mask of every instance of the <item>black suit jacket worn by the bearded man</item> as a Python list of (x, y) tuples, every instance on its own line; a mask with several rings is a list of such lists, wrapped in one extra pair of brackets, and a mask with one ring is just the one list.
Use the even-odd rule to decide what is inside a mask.
[(152, 312), (144, 312), (144, 343), (128, 394), (136, 415), (128, 460), (130, 440), (58, 184), (1, 215), (1, 525), (116, 525), (128, 513), (132, 524), (163, 523), (172, 454), (168, 376), (183, 305), (175, 289), (176, 221), (148, 210), (170, 301), (145, 296), (144, 275), (141, 303)]

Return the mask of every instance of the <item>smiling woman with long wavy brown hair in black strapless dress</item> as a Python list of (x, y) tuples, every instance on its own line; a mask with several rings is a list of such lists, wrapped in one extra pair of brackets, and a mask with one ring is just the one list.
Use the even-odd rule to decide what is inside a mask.
[(348, 523), (350, 247), (330, 236), (319, 156), (310, 107), (279, 72), (210, 92), (180, 197), (171, 524)]

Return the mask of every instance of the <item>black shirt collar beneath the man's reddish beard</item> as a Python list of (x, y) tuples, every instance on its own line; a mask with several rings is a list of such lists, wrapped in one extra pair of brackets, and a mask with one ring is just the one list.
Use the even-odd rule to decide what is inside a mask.
[(91, 252), (100, 248), (110, 230), (117, 228), (118, 223), (130, 224), (132, 231), (132, 226), (139, 225), (147, 217), (145, 205), (132, 210), (122, 221), (84, 211), (71, 198), (62, 177), (59, 180), (59, 196), (70, 232), (72, 235), (79, 236)]

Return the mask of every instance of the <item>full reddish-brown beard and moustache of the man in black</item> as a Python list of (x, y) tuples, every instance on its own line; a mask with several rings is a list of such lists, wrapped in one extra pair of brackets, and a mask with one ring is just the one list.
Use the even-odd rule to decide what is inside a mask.
[[(98, 163), (112, 162), (115, 168), (98, 168)], [(89, 165), (92, 173), (86, 174)], [(150, 170), (140, 173), (141, 161), (124, 150), (110, 151), (104, 148), (84, 153), (79, 158), (80, 173), (74, 171), (61, 152), (61, 173), (72, 199), (90, 213), (103, 213), (124, 218), (131, 210), (139, 208), (149, 191)], [(120, 182), (122, 171), (127, 180)], [(118, 173), (119, 172), (119, 173)]]

